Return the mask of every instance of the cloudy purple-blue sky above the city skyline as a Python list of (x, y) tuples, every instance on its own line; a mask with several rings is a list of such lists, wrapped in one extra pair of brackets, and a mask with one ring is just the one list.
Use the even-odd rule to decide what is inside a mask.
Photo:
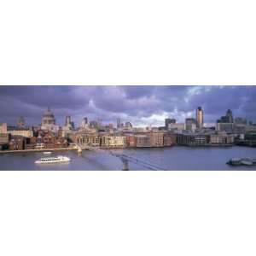
[(204, 110), (204, 121), (215, 123), (227, 109), (235, 117), (256, 121), (256, 86), (0, 86), (0, 123), (15, 125), (24, 116), (27, 125), (38, 125), (46, 108), (57, 125), (70, 115), (78, 125), (82, 118), (103, 124), (130, 121), (136, 126), (164, 125), (166, 118), (184, 122)]

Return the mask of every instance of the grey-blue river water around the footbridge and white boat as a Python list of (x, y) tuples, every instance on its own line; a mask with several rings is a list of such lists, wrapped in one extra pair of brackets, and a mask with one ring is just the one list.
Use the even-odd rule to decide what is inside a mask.
[[(189, 148), (174, 146), (172, 148), (125, 148), (113, 150), (116, 153), (128, 154), (137, 159), (154, 163), (166, 170), (196, 171), (196, 170), (256, 170), (256, 166), (228, 166), (226, 162), (230, 158), (253, 157), (256, 158), (256, 148), (247, 147), (207, 147)], [(0, 154), (0, 170), (91, 170), (108, 171), (122, 170), (122, 162), (119, 158), (108, 153), (92, 152), (84, 150), (82, 154), (76, 151), (55, 151), (51, 156), (66, 155), (69, 163), (36, 165), (35, 160), (45, 157), (42, 152), (28, 152), (15, 154)], [(132, 171), (147, 170), (143, 166), (129, 163)]]

